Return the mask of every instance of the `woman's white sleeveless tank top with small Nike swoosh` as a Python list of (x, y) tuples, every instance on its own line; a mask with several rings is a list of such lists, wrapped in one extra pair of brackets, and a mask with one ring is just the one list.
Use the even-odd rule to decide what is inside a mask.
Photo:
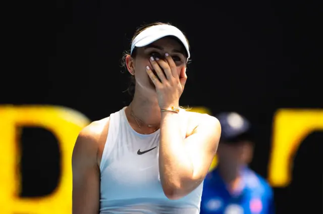
[[(160, 131), (137, 133), (124, 110), (110, 116), (100, 163), (100, 213), (199, 213), (203, 183), (179, 200), (168, 199), (158, 169)], [(138, 154), (139, 149), (142, 153), (152, 150)]]

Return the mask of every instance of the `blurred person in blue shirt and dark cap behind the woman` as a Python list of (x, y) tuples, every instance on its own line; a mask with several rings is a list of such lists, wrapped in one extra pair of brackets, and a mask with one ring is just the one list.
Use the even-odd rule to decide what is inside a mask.
[(217, 118), (222, 127), (218, 166), (204, 180), (200, 213), (274, 213), (272, 188), (248, 167), (254, 138), (249, 121), (237, 113)]

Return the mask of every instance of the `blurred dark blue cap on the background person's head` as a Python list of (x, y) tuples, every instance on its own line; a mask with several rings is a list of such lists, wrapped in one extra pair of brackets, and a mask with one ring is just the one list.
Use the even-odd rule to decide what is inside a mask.
[(221, 124), (221, 141), (235, 142), (239, 141), (242, 136), (250, 137), (250, 122), (238, 113), (221, 113), (216, 117)]

